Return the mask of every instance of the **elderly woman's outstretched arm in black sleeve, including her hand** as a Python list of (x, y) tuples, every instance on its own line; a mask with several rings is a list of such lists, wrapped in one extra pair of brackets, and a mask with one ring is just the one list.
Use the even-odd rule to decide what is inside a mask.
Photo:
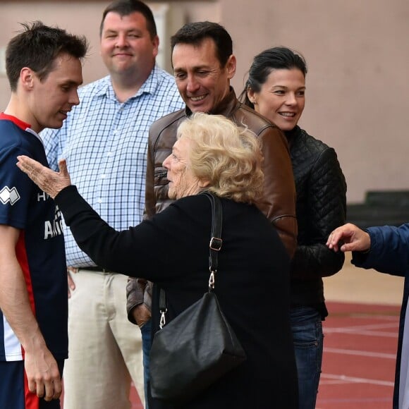
[[(210, 222), (211, 207), (204, 195), (185, 197), (183, 200), (188, 203), (183, 204), (183, 208), (175, 202), (149, 221), (116, 231), (71, 185), (65, 161), (59, 166), (60, 171), (54, 172), (28, 157), (18, 157), (18, 167), (54, 198), (78, 246), (95, 264), (127, 276), (141, 276), (143, 272), (143, 278), (164, 283), (181, 275), (186, 252), (195, 259), (200, 257), (202, 249), (208, 248), (207, 236), (186, 238), (184, 233), (184, 226), (192, 222), (195, 214), (201, 215), (199, 223), (203, 214)], [(158, 248), (161, 248), (161, 257), (157, 255)], [(169, 260), (181, 267), (169, 269)]]

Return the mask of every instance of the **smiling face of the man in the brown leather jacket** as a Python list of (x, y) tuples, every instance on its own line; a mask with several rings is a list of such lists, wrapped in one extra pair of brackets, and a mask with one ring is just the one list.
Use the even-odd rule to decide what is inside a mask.
[(236, 72), (236, 57), (231, 55), (221, 67), (210, 38), (198, 45), (176, 44), (172, 64), (179, 93), (192, 112), (212, 112), (228, 94)]

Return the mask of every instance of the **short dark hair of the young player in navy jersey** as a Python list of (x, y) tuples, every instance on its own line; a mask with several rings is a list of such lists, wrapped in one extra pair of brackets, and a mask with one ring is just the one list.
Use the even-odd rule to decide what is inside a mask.
[(17, 90), (22, 68), (31, 68), (42, 81), (53, 71), (55, 59), (60, 54), (76, 59), (83, 59), (87, 54), (88, 40), (84, 36), (69, 34), (41, 21), (22, 25), (24, 29), (6, 48), (6, 73), (12, 92)]

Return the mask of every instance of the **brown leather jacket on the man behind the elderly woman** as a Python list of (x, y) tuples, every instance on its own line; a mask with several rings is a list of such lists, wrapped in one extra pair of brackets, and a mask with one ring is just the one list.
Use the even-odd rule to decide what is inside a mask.
[[(147, 152), (145, 217), (150, 218), (165, 209), (171, 200), (168, 197), (168, 180), (166, 169), (162, 166), (166, 157), (171, 154), (176, 142), (178, 125), (185, 120), (191, 111), (186, 107), (173, 112), (152, 123), (149, 130)], [(230, 93), (211, 112), (224, 115), (237, 125), (248, 126), (262, 141), (264, 154), (264, 197), (257, 204), (262, 212), (276, 227), (291, 257), (297, 245), (297, 221), (295, 219), (295, 183), (288, 144), (281, 130), (257, 114), (248, 106), (240, 103), (231, 88)], [(136, 279), (130, 279), (136, 280)], [(152, 290), (148, 286), (148, 291)], [(128, 318), (135, 322), (130, 311), (136, 305), (145, 303), (144, 288), (140, 280), (128, 283)], [(147, 305), (150, 310), (150, 305)]]

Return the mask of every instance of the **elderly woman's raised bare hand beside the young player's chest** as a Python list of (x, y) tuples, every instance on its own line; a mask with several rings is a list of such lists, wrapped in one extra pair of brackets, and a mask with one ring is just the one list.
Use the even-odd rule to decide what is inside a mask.
[(59, 161), (59, 172), (54, 172), (39, 162), (24, 155), (17, 157), (17, 166), (45, 193), (53, 199), (63, 188), (71, 185), (65, 159)]

